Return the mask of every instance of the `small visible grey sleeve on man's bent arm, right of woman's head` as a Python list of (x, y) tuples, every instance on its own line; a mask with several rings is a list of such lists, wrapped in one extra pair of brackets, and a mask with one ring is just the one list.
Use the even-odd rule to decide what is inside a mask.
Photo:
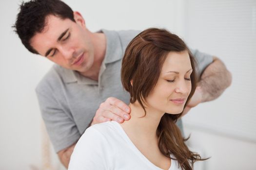
[(201, 75), (204, 69), (213, 62), (213, 56), (200, 52), (198, 50), (190, 49), (190, 51), (192, 52), (192, 54), (194, 55), (197, 61), (198, 69), (199, 69), (198, 71), (199, 71), (199, 74)]

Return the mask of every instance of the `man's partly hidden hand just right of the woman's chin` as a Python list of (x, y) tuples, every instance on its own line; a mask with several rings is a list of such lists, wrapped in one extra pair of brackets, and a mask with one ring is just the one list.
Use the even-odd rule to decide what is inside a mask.
[(192, 96), (192, 98), (190, 99), (190, 101), (188, 102), (187, 106), (184, 108), (182, 116), (184, 116), (185, 114), (188, 113), (188, 111), (192, 108), (197, 106), (197, 104), (199, 104), (200, 102), (202, 102), (202, 89), (200, 86), (197, 86), (196, 91), (194, 93), (194, 95)]

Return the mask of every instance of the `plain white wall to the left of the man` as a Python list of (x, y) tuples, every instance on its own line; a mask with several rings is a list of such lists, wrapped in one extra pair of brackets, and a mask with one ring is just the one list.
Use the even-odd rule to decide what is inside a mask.
[(19, 0), (0, 2), (0, 170), (41, 162), (41, 118), (34, 92), (50, 63), (30, 54), (12, 31)]

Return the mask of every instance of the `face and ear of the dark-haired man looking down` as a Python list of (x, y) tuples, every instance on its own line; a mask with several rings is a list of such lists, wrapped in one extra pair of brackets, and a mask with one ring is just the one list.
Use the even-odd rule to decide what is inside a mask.
[(35, 34), (31, 46), (54, 63), (68, 69), (85, 72), (94, 62), (91, 33), (85, 28), (79, 13), (74, 13), (76, 22), (49, 15), (41, 33)]

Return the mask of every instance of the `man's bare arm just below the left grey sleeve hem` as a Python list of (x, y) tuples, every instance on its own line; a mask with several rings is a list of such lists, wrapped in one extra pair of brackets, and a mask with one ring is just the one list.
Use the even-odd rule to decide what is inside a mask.
[(64, 165), (66, 169), (68, 169), (68, 164), (70, 161), (70, 156), (74, 151), (74, 148), (76, 146), (77, 142), (71, 145), (70, 147), (63, 149), (58, 152), (59, 160)]

